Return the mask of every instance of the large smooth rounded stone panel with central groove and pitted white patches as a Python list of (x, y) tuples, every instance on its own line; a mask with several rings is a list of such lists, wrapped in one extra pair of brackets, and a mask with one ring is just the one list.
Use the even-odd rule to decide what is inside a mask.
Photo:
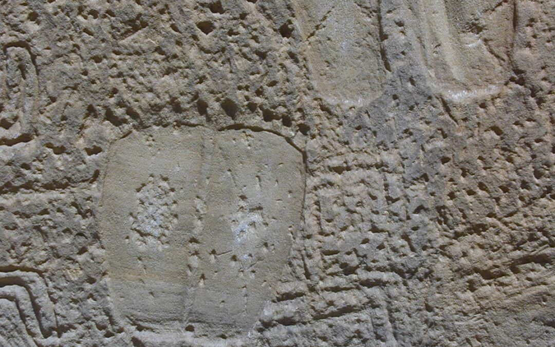
[(301, 223), (304, 175), (301, 153), (268, 132), (159, 128), (115, 142), (99, 225), (120, 318), (158, 341), (252, 328)]

